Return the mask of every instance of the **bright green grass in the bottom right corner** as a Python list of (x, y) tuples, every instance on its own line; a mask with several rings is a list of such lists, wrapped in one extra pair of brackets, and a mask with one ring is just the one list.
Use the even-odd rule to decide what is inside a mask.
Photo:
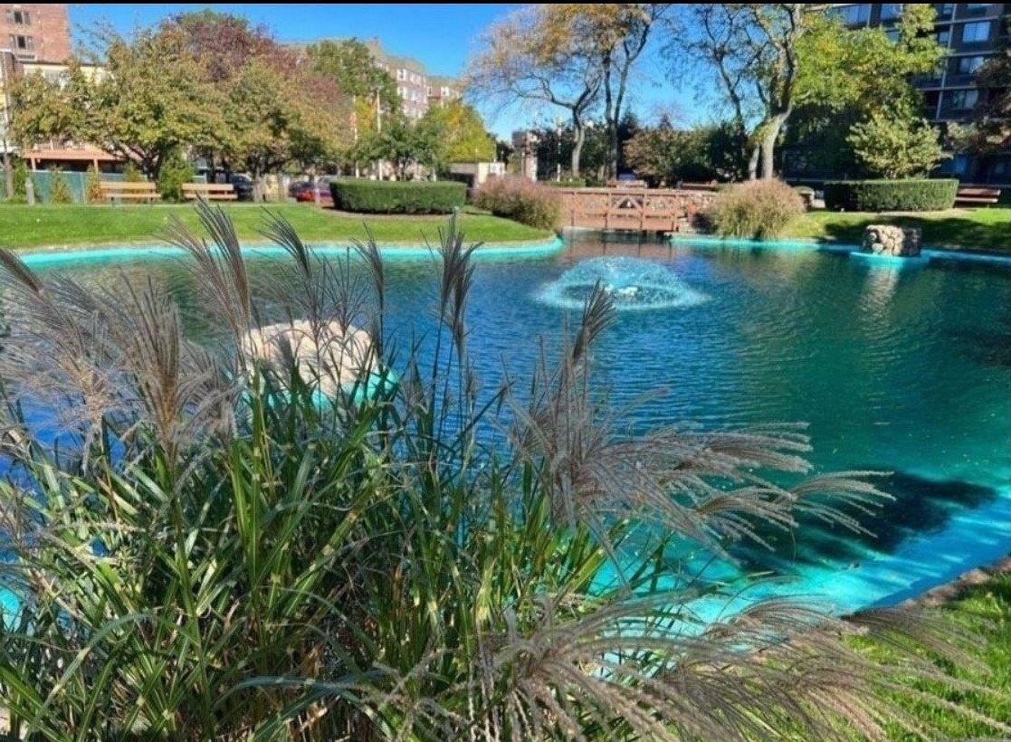
[[(937, 693), (945, 701), (963, 705), (971, 710), (1011, 725), (1011, 574), (994, 577), (986, 584), (970, 588), (960, 598), (947, 604), (945, 611), (954, 614), (963, 627), (963, 639), (971, 639), (973, 657), (983, 669), (957, 666), (937, 659), (937, 667), (946, 675), (959, 680), (984, 685), (998, 694), (998, 699), (979, 692), (966, 692), (953, 685), (938, 681), (910, 682), (910, 687)], [(891, 651), (884, 645), (866, 647), (870, 656), (886, 655)], [(1004, 739), (1004, 736), (981, 722), (950, 711), (938, 710), (909, 695), (894, 697), (900, 706), (915, 719), (929, 725), (944, 739)], [(918, 739), (898, 725), (889, 729), (894, 740)]]

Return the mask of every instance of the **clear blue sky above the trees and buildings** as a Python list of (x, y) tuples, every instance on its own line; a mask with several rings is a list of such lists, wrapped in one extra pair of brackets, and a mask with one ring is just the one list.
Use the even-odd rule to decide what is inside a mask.
[[(106, 5), (102, 3), (72, 3), (72, 26), (89, 26), (97, 20), (108, 20), (120, 31), (151, 25), (160, 19), (188, 10), (213, 8), (244, 15), (255, 23), (272, 29), (282, 41), (305, 41), (327, 36), (378, 36), (392, 54), (415, 57), (438, 75), (458, 75), (467, 55), (473, 50), (481, 31), (496, 18), (518, 4), (137, 4)], [(674, 86), (665, 79), (664, 66), (658, 54), (645, 59), (640, 66), (638, 91), (631, 107), (646, 118), (659, 110), (679, 111), (688, 120), (708, 116), (695, 103), (694, 91)], [(561, 109), (534, 113), (514, 107), (497, 112), (484, 109), (488, 127), (505, 136), (520, 125), (550, 122)]]

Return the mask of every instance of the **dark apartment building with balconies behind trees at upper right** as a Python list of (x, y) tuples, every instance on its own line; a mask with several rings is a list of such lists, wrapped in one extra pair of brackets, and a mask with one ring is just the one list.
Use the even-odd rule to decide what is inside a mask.
[[(977, 85), (976, 73), (988, 59), (1001, 54), (1009, 40), (1011, 3), (933, 3), (934, 34), (947, 50), (939, 68), (913, 80), (923, 91), (924, 116), (946, 125), (973, 118), (988, 91)], [(884, 27), (898, 37), (904, 3), (833, 4), (828, 12), (850, 28)], [(974, 158), (957, 155), (941, 170), (963, 182), (1011, 184), (1011, 154)]]

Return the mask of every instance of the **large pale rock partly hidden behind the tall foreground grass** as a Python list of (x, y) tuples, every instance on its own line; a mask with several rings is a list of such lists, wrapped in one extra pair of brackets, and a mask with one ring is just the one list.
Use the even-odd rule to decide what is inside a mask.
[(279, 368), (285, 345), (291, 347), (302, 378), (311, 383), (318, 377), (319, 391), (328, 396), (361, 378), (373, 362), (369, 334), (337, 321), (320, 326), (317, 333), (305, 319), (266, 324), (247, 333), (241, 349), (247, 357)]

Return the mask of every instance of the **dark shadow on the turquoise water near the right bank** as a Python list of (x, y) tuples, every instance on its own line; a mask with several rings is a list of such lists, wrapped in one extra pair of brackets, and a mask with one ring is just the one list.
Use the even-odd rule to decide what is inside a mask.
[[(776, 556), (797, 565), (823, 564), (826, 560), (855, 564), (867, 551), (890, 554), (908, 538), (936, 533), (963, 508), (980, 506), (998, 491), (956, 479), (935, 480), (909, 472), (882, 477), (879, 488), (894, 497), (872, 517), (860, 519), (870, 533), (854, 534), (842, 527), (802, 520), (800, 533), (764, 530), (760, 535), (774, 547)], [(769, 553), (748, 547), (734, 552), (745, 571), (768, 566)]]

